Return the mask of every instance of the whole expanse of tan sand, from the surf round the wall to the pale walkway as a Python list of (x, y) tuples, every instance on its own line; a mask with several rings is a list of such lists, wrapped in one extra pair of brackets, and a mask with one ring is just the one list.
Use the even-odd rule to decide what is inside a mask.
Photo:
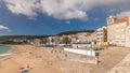
[(20, 67), (29, 67), (29, 73), (107, 73), (130, 54), (129, 48), (109, 47), (100, 53), (95, 65), (57, 59), (48, 52), (51, 47), (13, 45), (13, 56), (0, 62), (0, 73), (17, 73)]

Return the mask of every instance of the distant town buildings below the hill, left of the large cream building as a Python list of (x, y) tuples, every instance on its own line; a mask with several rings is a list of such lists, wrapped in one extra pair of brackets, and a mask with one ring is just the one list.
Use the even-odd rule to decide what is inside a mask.
[(101, 43), (107, 41), (107, 31), (106, 27), (99, 28), (95, 32), (80, 32), (76, 34), (68, 35), (55, 35), (48, 36), (43, 39), (35, 39), (31, 44), (35, 45), (58, 45), (63, 46), (65, 44), (72, 45), (73, 47), (93, 47), (101, 46)]

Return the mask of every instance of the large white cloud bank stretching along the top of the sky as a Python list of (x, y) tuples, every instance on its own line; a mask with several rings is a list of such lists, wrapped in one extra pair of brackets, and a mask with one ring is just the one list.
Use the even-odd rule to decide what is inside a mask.
[(122, 5), (130, 0), (3, 0), (14, 14), (36, 17), (38, 13), (57, 19), (88, 19), (87, 12), (95, 6)]

